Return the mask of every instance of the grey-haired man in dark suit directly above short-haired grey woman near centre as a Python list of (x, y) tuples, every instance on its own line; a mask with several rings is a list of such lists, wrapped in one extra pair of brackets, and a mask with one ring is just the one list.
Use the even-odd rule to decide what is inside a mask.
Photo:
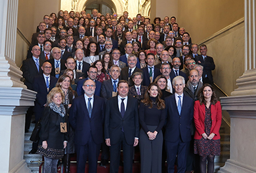
[(131, 78), (131, 76), (133, 75), (133, 73), (135, 72), (142, 72), (143, 74), (143, 71), (139, 68), (136, 67), (136, 64), (137, 64), (137, 57), (135, 54), (130, 54), (128, 56), (128, 67), (124, 67), (122, 70), (121, 70), (121, 76), (120, 78), (122, 80), (126, 80), (129, 84), (129, 86), (133, 86), (134, 85), (134, 82)]

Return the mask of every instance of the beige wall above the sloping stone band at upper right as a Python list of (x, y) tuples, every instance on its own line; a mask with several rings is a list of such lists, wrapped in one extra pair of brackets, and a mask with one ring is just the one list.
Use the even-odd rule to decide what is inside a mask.
[(178, 1), (177, 23), (200, 42), (244, 17), (244, 0)]

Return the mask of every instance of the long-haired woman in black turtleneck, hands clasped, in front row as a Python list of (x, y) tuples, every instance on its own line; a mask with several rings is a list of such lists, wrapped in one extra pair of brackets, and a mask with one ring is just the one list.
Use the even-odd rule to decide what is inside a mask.
[(161, 172), (161, 152), (165, 123), (165, 102), (161, 99), (161, 90), (157, 84), (148, 86), (144, 100), (140, 103), (140, 172)]

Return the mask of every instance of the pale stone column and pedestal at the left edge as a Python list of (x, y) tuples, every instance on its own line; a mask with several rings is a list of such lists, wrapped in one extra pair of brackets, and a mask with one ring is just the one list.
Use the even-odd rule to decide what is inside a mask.
[(30, 172), (24, 156), (25, 114), (35, 92), (15, 64), (18, 0), (0, 1), (0, 172)]

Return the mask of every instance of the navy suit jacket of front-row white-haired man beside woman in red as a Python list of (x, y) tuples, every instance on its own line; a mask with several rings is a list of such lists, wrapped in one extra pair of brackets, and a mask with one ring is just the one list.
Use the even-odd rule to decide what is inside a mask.
[(175, 94), (165, 98), (165, 106), (167, 108), (165, 140), (168, 142), (177, 142), (181, 138), (182, 142), (189, 142), (191, 140), (190, 125), (193, 121), (194, 114), (193, 100), (183, 95), (181, 116), (178, 112)]

